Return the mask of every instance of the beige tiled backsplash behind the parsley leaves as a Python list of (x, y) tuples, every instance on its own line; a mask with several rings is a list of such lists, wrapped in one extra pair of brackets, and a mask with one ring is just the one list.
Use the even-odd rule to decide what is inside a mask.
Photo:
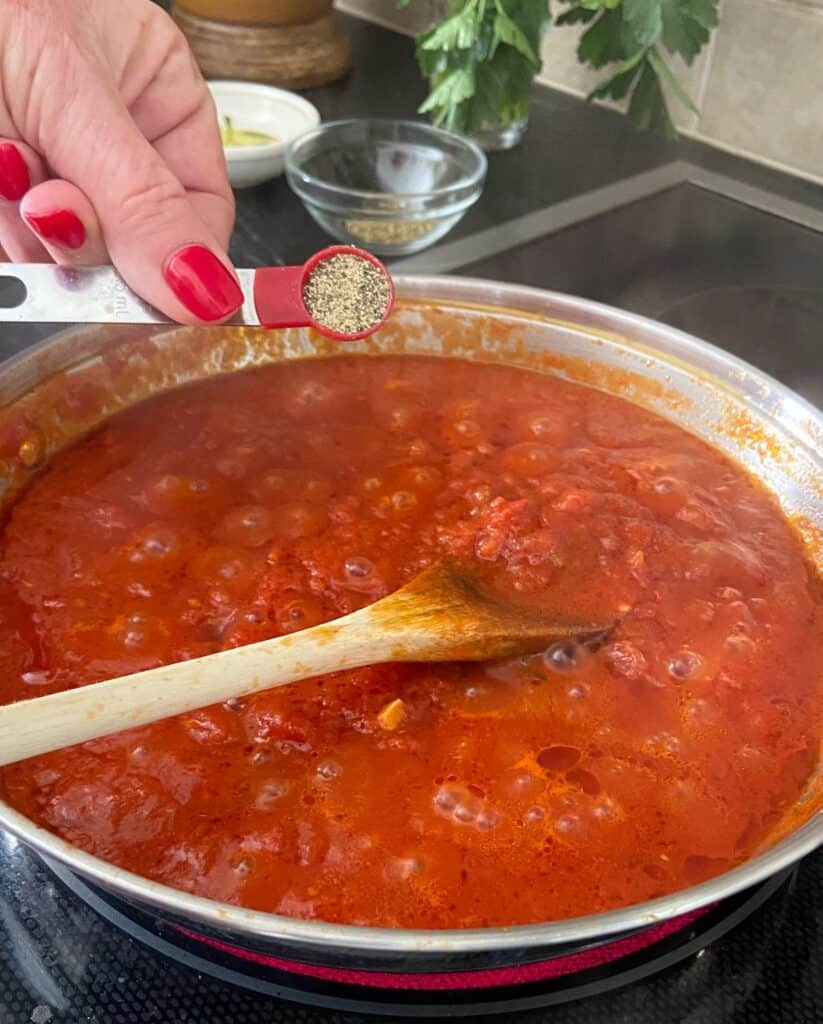
[[(399, 31), (431, 24), (442, 0), (337, 0)], [(552, 28), (540, 81), (586, 95), (604, 76), (577, 62), (577, 27)], [(681, 81), (700, 110), (670, 109), (685, 134), (823, 182), (823, 0), (721, 0), (721, 24)]]

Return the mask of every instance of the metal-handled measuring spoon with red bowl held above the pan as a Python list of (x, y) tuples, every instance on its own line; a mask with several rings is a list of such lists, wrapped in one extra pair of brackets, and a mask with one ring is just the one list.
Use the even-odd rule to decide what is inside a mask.
[[(355, 334), (333, 331), (306, 308), (306, 282), (324, 260), (355, 256), (383, 274), (388, 301), (376, 324)], [(14, 286), (4, 290), (4, 279)], [(245, 301), (232, 324), (266, 328), (311, 327), (337, 341), (356, 341), (374, 334), (394, 306), (389, 271), (371, 253), (355, 246), (331, 246), (302, 266), (263, 266), (237, 270)], [(48, 263), (10, 263), (0, 266), (0, 323), (46, 324), (168, 324), (168, 317), (126, 287), (113, 266), (68, 267)]]

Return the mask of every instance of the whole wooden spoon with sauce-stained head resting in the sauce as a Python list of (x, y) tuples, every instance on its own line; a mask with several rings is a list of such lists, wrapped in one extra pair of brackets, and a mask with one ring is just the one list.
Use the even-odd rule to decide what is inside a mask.
[(592, 640), (613, 625), (517, 608), (444, 560), (381, 601), (322, 626), (6, 705), (0, 765), (341, 669), (485, 662), (559, 640)]

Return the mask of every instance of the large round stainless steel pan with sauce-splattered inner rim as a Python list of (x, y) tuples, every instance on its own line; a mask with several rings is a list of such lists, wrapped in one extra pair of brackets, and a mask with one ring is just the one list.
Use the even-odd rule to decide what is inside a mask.
[[(428, 352), (504, 361), (623, 394), (744, 464), (794, 517), (823, 569), (823, 414), (722, 350), (640, 316), (583, 299), (463, 279), (408, 278), (392, 322), (364, 354)], [(776, 342), (777, 343), (777, 342)], [(275, 359), (323, 357), (340, 346), (304, 331), (242, 328), (83, 329), (0, 367), (0, 438), (33, 437), (25, 460), (0, 463), (11, 500), (38, 462), (94, 423), (151, 393)], [(7, 433), (6, 433), (7, 436)], [(32, 458), (32, 452), (36, 458)], [(821, 773), (742, 866), (651, 902), (570, 921), (471, 931), (403, 931), (305, 922), (245, 910), (158, 885), (78, 850), (0, 803), (0, 826), (42, 854), (200, 934), (293, 961), (375, 971), (448, 971), (546, 958), (706, 906), (814, 850), (823, 841)]]

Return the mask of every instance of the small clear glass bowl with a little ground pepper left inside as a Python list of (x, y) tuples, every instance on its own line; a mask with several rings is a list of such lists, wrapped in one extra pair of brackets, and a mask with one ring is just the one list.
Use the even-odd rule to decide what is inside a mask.
[(286, 175), (338, 242), (405, 256), (449, 231), (483, 190), (486, 158), (416, 121), (333, 121), (296, 139)]

